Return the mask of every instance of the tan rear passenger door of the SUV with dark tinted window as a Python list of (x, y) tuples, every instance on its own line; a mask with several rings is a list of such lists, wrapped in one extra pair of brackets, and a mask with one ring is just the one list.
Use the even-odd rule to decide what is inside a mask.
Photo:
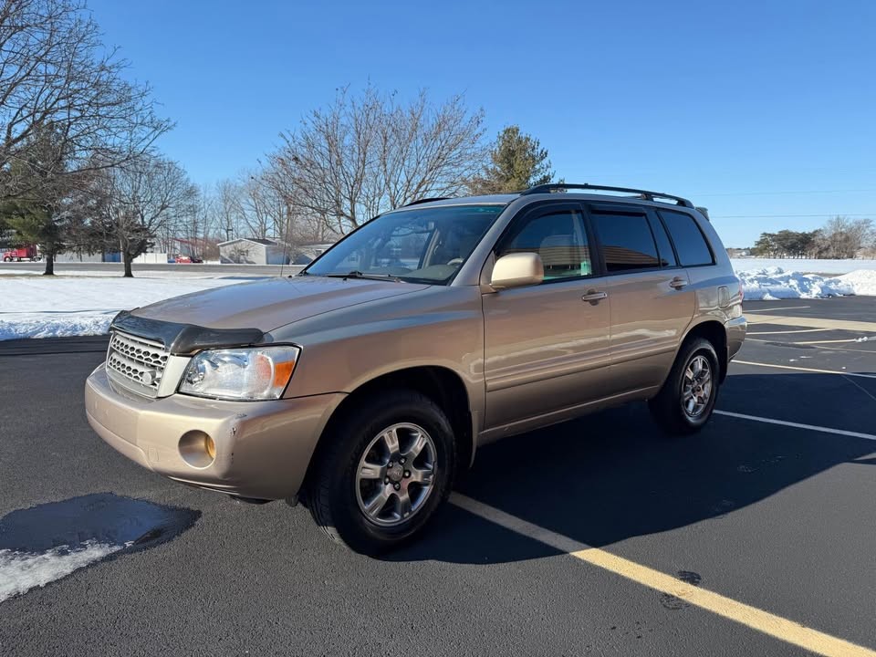
[(659, 386), (694, 317), (694, 292), (666, 230), (646, 206), (590, 203), (611, 299), (612, 392)]

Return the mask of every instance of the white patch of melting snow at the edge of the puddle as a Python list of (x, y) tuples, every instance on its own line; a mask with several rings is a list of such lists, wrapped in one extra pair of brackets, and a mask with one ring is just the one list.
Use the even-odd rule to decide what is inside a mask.
[(86, 541), (79, 547), (52, 547), (42, 553), (0, 550), (0, 602), (34, 587), (46, 586), (74, 570), (106, 558), (127, 545)]

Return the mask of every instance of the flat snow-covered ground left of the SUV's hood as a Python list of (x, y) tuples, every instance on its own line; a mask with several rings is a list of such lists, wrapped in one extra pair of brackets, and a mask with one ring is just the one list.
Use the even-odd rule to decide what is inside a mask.
[(120, 310), (240, 282), (239, 278), (0, 276), (0, 340), (100, 335)]

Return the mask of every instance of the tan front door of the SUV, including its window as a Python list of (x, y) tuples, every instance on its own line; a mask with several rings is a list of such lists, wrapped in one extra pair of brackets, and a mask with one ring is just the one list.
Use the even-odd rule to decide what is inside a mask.
[(579, 203), (547, 202), (516, 217), (496, 245), (496, 257), (541, 255), (545, 279), (483, 297), (486, 430), (602, 396), (610, 298), (601, 297), (590, 244)]

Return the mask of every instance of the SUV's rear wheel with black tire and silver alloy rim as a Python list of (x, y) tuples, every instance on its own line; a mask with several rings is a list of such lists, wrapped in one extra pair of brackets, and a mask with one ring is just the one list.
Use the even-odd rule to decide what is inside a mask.
[[(697, 366), (700, 366), (699, 370)], [(707, 372), (704, 372), (705, 368)], [(690, 385), (688, 370), (694, 373), (694, 386)], [(704, 427), (712, 416), (718, 398), (720, 372), (718, 357), (711, 342), (694, 338), (682, 345), (660, 392), (648, 401), (652, 416), (664, 433), (688, 435)], [(709, 383), (707, 398), (702, 394), (706, 392), (706, 374)], [(685, 389), (689, 387), (693, 401), (685, 394)]]

